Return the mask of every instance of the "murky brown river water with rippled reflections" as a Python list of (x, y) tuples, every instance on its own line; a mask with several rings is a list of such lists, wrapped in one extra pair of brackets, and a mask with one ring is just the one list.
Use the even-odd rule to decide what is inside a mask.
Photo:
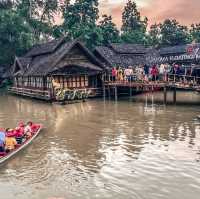
[(0, 126), (45, 128), (0, 167), (0, 198), (199, 199), (200, 95), (161, 97), (60, 106), (1, 94)]

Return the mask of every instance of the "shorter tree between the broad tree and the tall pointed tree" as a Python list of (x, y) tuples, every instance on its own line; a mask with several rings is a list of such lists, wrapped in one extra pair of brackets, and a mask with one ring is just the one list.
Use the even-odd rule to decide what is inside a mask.
[(102, 20), (99, 22), (99, 28), (101, 29), (101, 34), (103, 41), (102, 43), (116, 43), (119, 42), (119, 31), (116, 25), (112, 22), (112, 17), (103, 15)]

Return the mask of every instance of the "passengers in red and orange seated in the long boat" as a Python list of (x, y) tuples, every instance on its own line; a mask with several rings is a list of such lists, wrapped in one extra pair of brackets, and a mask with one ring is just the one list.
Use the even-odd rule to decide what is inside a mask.
[(39, 127), (32, 122), (28, 122), (26, 125), (20, 122), (15, 129), (0, 129), (0, 154), (14, 150), (16, 146), (32, 137)]

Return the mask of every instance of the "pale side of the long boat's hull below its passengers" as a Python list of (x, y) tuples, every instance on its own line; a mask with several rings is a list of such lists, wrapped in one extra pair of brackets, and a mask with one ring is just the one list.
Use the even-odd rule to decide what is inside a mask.
[(40, 125), (40, 128), (34, 133), (32, 137), (29, 139), (25, 140), (21, 145), (16, 146), (16, 148), (9, 153), (5, 153), (5, 155), (0, 156), (0, 164), (6, 162), (7, 160), (11, 159), (14, 157), (19, 151), (23, 150), (26, 148), (28, 145), (32, 143), (32, 141), (39, 135), (41, 132), (42, 126)]

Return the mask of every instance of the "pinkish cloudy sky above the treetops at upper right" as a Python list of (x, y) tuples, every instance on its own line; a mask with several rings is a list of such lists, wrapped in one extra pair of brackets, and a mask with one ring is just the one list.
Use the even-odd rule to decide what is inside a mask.
[[(99, 0), (101, 14), (112, 15), (118, 27), (121, 13), (127, 0)], [(200, 0), (136, 0), (142, 16), (147, 16), (149, 24), (175, 18), (183, 25), (200, 23)]]

